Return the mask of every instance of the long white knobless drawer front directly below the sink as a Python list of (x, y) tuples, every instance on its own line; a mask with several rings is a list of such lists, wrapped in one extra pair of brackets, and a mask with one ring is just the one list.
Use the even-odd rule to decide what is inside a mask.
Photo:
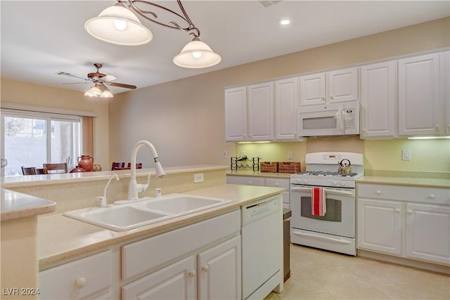
[[(122, 279), (158, 268), (240, 230), (240, 210), (122, 247)], [(158, 255), (155, 255), (158, 254)]]

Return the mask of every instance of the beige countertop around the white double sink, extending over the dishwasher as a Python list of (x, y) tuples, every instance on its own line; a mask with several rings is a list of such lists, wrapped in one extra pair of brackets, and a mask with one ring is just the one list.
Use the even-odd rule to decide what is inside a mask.
[(117, 242), (146, 237), (197, 223), (238, 209), (241, 205), (282, 193), (284, 188), (269, 188), (249, 185), (219, 185), (194, 190), (184, 194), (217, 197), (231, 200), (229, 204), (214, 207), (194, 214), (180, 216), (141, 228), (117, 232), (70, 219), (62, 214), (40, 216), (37, 225), (37, 254), (39, 266), (55, 263)]

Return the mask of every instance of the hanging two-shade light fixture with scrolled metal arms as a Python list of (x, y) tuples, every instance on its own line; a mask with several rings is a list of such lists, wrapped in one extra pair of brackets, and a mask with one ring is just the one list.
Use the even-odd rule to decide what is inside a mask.
[[(147, 44), (153, 38), (153, 34), (144, 27), (137, 16), (131, 11), (135, 11), (138, 15), (150, 20), (158, 25), (169, 27), (192, 34), (194, 39), (184, 46), (181, 53), (174, 57), (173, 63), (179, 67), (186, 68), (203, 68), (212, 67), (217, 65), (221, 61), (219, 54), (214, 53), (210, 46), (200, 41), (200, 30), (198, 30), (193, 22), (188, 17), (188, 14), (184, 10), (180, 0), (177, 0), (179, 8), (181, 9), (180, 15), (169, 8), (160, 6), (150, 1), (143, 0), (119, 0), (115, 6), (110, 6), (103, 10), (98, 17), (88, 20), (84, 24), (86, 32), (91, 34), (96, 39), (106, 41), (108, 43), (124, 45), (124, 46), (138, 46)], [(158, 18), (156, 13), (141, 9), (140, 6), (155, 6), (159, 9), (167, 11), (176, 15), (176, 18), (181, 18), (188, 24), (188, 27), (181, 27), (176, 22), (171, 21), (167, 24), (156, 21), (154, 18)], [(127, 7), (126, 7), (127, 6)]]

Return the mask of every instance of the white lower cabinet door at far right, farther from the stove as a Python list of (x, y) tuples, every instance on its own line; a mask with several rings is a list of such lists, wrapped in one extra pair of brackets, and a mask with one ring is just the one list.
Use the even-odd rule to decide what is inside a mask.
[(450, 207), (406, 204), (406, 256), (450, 265)]

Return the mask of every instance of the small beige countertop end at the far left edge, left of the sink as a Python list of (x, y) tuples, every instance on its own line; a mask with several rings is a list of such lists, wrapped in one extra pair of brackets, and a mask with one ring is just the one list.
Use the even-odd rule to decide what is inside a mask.
[(1, 221), (37, 216), (55, 211), (56, 203), (53, 201), (25, 195), (13, 190), (0, 189), (1, 194)]

